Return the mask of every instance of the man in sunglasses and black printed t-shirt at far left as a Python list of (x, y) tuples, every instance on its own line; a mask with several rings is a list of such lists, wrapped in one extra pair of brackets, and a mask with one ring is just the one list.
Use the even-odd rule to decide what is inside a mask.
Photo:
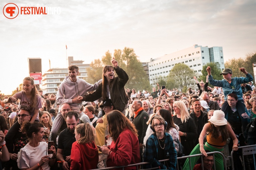
[(7, 167), (12, 167), (13, 170), (19, 169), (16, 162), (18, 159), (17, 154), (19, 150), (28, 143), (26, 134), (23, 134), (20, 131), (20, 128), (23, 123), (31, 119), (31, 116), (27, 110), (20, 110), (17, 117), (18, 121), (11, 126), (5, 136), (6, 147), (10, 155), (10, 160), (7, 163)]

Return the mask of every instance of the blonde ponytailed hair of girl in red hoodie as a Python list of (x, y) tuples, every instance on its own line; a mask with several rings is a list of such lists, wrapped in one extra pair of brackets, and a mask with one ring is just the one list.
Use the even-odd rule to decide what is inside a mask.
[(94, 140), (94, 133), (90, 123), (83, 123), (76, 126), (76, 132), (80, 134), (78, 144), (91, 143)]

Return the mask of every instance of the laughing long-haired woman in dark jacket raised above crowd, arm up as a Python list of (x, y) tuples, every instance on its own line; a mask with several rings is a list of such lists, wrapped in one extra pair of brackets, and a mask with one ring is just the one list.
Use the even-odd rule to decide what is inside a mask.
[[(103, 68), (102, 82), (99, 84), (96, 91), (92, 94), (84, 95), (83, 97), (79, 96), (78, 100), (93, 102), (100, 97), (102, 97), (103, 100), (110, 98), (116, 110), (125, 114), (129, 97), (125, 92), (124, 85), (129, 80), (129, 77), (125, 71), (118, 66), (118, 62), (114, 57), (111, 63), (113, 66), (106, 65)], [(115, 77), (114, 71), (117, 77)]]

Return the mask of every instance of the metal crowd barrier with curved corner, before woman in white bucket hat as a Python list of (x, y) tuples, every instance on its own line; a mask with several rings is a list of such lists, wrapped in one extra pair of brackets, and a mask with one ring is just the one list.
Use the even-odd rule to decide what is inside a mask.
[[(213, 157), (214, 157), (214, 170), (216, 170), (215, 168), (215, 154), (221, 154), (222, 157), (223, 157), (223, 160), (224, 160), (224, 168), (225, 170), (227, 170), (227, 165), (226, 165), (226, 157), (223, 155), (223, 153), (221, 152), (207, 152), (207, 155), (209, 154), (212, 154)], [(189, 167), (191, 169), (191, 162), (190, 162), (190, 158), (191, 157), (195, 157), (195, 156), (201, 156), (201, 161), (202, 161), (202, 166), (203, 166), (203, 154), (196, 154), (196, 155), (189, 155), (189, 156), (183, 156), (183, 157), (177, 157), (177, 160), (179, 159), (186, 159), (186, 158), (189, 158)], [(164, 159), (164, 160), (160, 160), (159, 162), (164, 162), (165, 164), (165, 161), (168, 161), (169, 159)], [(113, 166), (113, 167), (106, 167), (106, 168), (100, 168), (100, 170), (107, 170), (107, 169), (117, 169), (117, 168), (122, 168), (122, 170), (124, 170), (124, 168), (126, 167), (131, 167), (131, 166), (136, 166), (136, 170), (139, 170), (139, 166), (141, 165), (146, 165), (146, 164), (151, 164), (150, 162), (141, 162), (141, 163), (137, 163), (137, 164), (131, 164), (131, 165), (127, 165), (127, 166)], [(178, 165), (178, 161), (177, 161), (177, 165), (176, 166), (179, 166)], [(154, 167), (152, 168), (152, 165), (151, 165), (151, 168), (149, 169), (143, 169), (143, 170), (155, 170), (155, 169), (159, 169), (159, 167)], [(192, 167), (193, 169), (193, 167)], [(93, 169), (93, 170), (99, 170), (99, 169)]]

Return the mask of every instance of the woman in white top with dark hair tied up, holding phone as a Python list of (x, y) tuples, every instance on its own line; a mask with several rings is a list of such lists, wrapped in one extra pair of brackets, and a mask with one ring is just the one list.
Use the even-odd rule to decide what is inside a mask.
[[(56, 150), (52, 146), (48, 148), (46, 142), (42, 142), (44, 137), (44, 126), (39, 122), (30, 123), (27, 121), (22, 125), (22, 132), (26, 134), (29, 143), (21, 148), (18, 153), (18, 167), (21, 170), (27, 169), (44, 169), (50, 170), (56, 159)], [(48, 151), (53, 154), (48, 155)]]

